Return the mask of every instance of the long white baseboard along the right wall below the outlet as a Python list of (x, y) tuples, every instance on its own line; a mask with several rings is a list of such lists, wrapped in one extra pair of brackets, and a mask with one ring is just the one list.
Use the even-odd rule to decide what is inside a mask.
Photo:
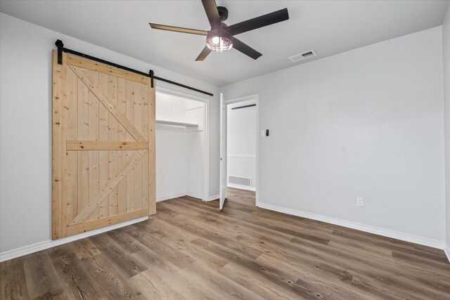
[[(405, 242), (413, 242), (416, 244), (422, 244), (424, 246), (433, 247), (437, 249), (444, 249), (445, 243), (439, 240), (432, 240), (428, 237), (420, 237), (417, 235), (410, 235), (408, 233), (400, 233), (398, 231), (384, 229), (384, 228), (378, 228), (375, 226), (368, 226), (361, 223), (356, 223), (352, 221), (345, 221), (341, 219), (335, 219), (329, 216), (322, 216), (319, 214), (311, 214), (306, 211), (299, 211), (296, 209), (288, 209), (285, 207), (278, 207), (277, 205), (273, 204), (265, 204), (265, 203), (258, 203), (258, 207), (261, 207), (263, 209), (269, 209), (273, 211), (282, 212), (284, 214), (292, 214), (293, 216), (302, 216), (303, 218), (307, 219), (313, 219), (316, 221), (322, 221), (330, 224), (335, 224), (338, 226), (343, 226), (347, 228), (353, 228), (356, 230), (365, 231), (367, 233), (374, 233), (375, 235), (383, 235), (385, 237), (392, 237), (397, 240), (403, 240)], [(449, 257), (449, 254), (447, 254), (447, 257)]]

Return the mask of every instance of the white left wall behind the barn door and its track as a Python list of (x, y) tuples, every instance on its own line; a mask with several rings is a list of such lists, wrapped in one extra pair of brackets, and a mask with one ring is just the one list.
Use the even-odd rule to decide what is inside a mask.
[(51, 239), (51, 51), (56, 39), (67, 48), (144, 72), (153, 69), (160, 77), (214, 93), (209, 105), (210, 195), (219, 193), (216, 86), (0, 13), (0, 252)]

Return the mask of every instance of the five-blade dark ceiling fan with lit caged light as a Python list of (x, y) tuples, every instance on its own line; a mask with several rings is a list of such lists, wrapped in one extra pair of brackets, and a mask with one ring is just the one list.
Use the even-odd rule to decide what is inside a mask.
[(205, 8), (207, 18), (210, 21), (211, 30), (209, 31), (148, 23), (150, 24), (150, 27), (157, 30), (205, 35), (206, 46), (203, 48), (203, 51), (195, 59), (195, 61), (205, 60), (211, 51), (224, 52), (231, 48), (235, 48), (236, 50), (244, 53), (246, 56), (250, 56), (250, 58), (256, 60), (259, 56), (262, 56), (262, 54), (254, 48), (244, 44), (242, 41), (236, 39), (234, 35), (289, 19), (288, 8), (283, 8), (279, 11), (274, 11), (273, 13), (267, 13), (266, 15), (260, 15), (257, 18), (252, 18), (250, 20), (227, 26), (224, 23), (224, 21), (228, 18), (228, 10), (226, 8), (223, 6), (217, 6), (215, 0), (202, 0), (202, 3)]

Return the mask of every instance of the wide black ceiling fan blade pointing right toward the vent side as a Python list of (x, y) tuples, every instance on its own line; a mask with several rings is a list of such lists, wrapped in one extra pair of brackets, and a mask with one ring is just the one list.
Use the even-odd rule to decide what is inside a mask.
[(228, 31), (235, 35), (243, 32), (248, 32), (250, 30), (255, 30), (260, 27), (267, 25), (272, 25), (278, 22), (282, 22), (289, 19), (288, 8), (283, 8), (279, 11), (274, 11), (273, 13), (268, 13), (266, 15), (260, 15), (257, 18), (252, 18), (243, 22), (239, 22), (227, 27)]

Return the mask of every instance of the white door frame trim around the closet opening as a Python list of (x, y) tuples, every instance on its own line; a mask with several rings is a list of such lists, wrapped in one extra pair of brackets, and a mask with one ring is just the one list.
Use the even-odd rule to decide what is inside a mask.
[[(156, 86), (155, 93), (165, 93), (171, 96), (178, 96), (181, 98), (187, 98), (189, 100), (195, 100), (205, 103), (205, 125), (203, 126), (203, 131), (205, 132), (205, 148), (203, 149), (203, 152), (205, 153), (203, 157), (203, 188), (202, 188), (202, 200), (203, 201), (209, 201), (209, 195), (210, 195), (210, 99), (193, 96), (188, 93), (183, 93), (180, 91), (175, 91), (172, 89), (163, 88), (160, 86)], [(155, 95), (156, 98), (156, 95)], [(155, 100), (156, 105), (156, 100)], [(156, 107), (155, 107), (156, 109)]]

